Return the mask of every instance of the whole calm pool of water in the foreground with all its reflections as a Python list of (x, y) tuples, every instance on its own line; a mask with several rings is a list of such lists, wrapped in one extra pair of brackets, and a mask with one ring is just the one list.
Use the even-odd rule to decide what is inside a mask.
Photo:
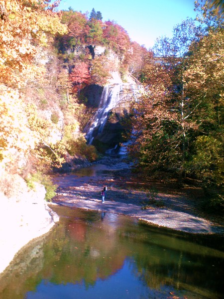
[(221, 236), (191, 235), (53, 206), (60, 222), (0, 277), (0, 299), (218, 299)]

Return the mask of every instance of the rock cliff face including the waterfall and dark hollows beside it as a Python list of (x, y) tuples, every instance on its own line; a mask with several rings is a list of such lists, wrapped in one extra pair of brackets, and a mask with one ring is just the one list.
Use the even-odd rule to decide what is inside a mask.
[[(104, 87), (89, 85), (81, 91), (87, 105), (96, 110), (84, 129), (87, 143), (103, 153), (114, 148), (118, 150), (124, 142), (123, 120), (128, 116), (130, 102), (139, 93), (141, 85), (128, 74), (123, 74), (121, 78), (119, 70), (122, 62), (112, 50), (96, 45), (87, 47), (93, 59), (103, 56), (108, 65), (112, 66), (110, 79)], [(85, 53), (85, 48), (79, 46), (73, 49), (75, 57)]]

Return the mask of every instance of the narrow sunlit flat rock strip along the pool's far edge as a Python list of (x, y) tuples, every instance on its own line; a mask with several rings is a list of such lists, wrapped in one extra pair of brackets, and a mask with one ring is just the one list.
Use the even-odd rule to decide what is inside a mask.
[(211, 234), (222, 233), (223, 231), (222, 228), (214, 226), (210, 221), (185, 212), (161, 208), (153, 210), (142, 210), (140, 206), (131, 203), (122, 203), (115, 201), (105, 201), (105, 203), (102, 203), (101, 200), (78, 199), (67, 199), (66, 201), (55, 199), (54, 203), (87, 210), (97, 210), (122, 214), (146, 221), (149, 224), (154, 224), (189, 233)]

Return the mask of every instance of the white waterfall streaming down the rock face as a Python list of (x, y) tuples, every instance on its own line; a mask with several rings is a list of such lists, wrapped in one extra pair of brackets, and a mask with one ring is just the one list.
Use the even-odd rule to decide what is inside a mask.
[(138, 90), (138, 85), (130, 83), (108, 84), (104, 87), (98, 110), (84, 129), (89, 145), (98, 134), (102, 133), (112, 108), (119, 106), (121, 102), (131, 100)]

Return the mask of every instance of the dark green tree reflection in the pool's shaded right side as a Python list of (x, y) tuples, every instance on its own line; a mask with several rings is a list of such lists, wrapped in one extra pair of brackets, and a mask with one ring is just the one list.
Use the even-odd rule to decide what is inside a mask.
[[(193, 239), (197, 238), (200, 239), (199, 236)], [(131, 237), (127, 235), (127, 239)], [(172, 238), (162, 230), (153, 234), (138, 233), (137, 239), (132, 244), (136, 265), (133, 271), (150, 289), (173, 286), (205, 298), (222, 298), (222, 251), (187, 238)]]

